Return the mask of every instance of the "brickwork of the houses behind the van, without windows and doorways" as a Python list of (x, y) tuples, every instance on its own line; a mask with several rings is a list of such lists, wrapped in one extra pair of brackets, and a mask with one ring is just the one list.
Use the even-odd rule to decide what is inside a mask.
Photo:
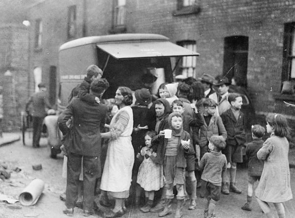
[[(58, 65), (58, 48), (68, 41), (67, 8), (77, 5), (77, 36), (83, 36), (83, 1), (44, 1), (29, 11), (30, 35), (34, 20), (43, 20), (42, 51), (30, 50), (30, 72), (41, 65), (48, 82), (50, 65)], [(86, 35), (108, 34), (112, 28), (110, 0), (86, 1)], [(168, 36), (171, 41), (196, 40), (197, 75), (216, 76), (223, 70), (224, 38), (243, 35), (249, 38), (248, 89), (256, 111), (280, 112), (294, 116), (292, 108), (276, 100), (281, 87), (284, 23), (295, 21), (293, 0), (211, 0), (200, 1), (198, 14), (174, 16), (177, 0), (126, 0), (126, 32), (149, 32)], [(32, 38), (33, 41), (33, 38)], [(31, 41), (31, 45), (33, 44)], [(33, 77), (31, 76), (31, 79)], [(30, 81), (32, 84), (32, 81)], [(33, 87), (31, 85), (31, 87)]]

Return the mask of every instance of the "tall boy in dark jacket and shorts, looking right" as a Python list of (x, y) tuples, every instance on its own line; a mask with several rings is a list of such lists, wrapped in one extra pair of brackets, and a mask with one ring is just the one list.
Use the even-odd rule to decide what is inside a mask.
[[(245, 144), (245, 118), (240, 112), (242, 106), (242, 97), (238, 93), (230, 93), (228, 101), (231, 108), (224, 112), (220, 117), (227, 131), (226, 148), (223, 151), (228, 162), (228, 171), (230, 172), (230, 181), (226, 174), (222, 177), (221, 192), (229, 194), (229, 190), (241, 193), (236, 187), (236, 163), (243, 162), (242, 147)], [(229, 184), (230, 182), (230, 184)], [(230, 186), (229, 186), (230, 185)]]

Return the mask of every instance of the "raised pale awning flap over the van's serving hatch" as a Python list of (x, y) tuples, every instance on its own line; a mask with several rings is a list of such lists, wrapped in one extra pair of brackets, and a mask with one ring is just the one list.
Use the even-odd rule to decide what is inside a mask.
[(169, 41), (97, 44), (97, 47), (116, 59), (200, 55)]

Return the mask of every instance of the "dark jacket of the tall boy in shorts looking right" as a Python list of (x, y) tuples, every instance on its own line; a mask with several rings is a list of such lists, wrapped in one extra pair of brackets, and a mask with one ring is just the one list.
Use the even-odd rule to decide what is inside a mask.
[(232, 109), (228, 109), (221, 116), (222, 123), (227, 131), (227, 145), (244, 145), (245, 139), (245, 118), (242, 112), (239, 112), (238, 119), (236, 120)]

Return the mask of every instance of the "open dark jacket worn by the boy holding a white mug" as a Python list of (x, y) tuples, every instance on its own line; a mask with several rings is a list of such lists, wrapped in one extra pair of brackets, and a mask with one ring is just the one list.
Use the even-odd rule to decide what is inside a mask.
[[(181, 142), (181, 140), (187, 141), (188, 139), (190, 139), (190, 141), (191, 141), (190, 147), (188, 150), (185, 150), (182, 147), (182, 145), (180, 144), (180, 142)], [(156, 135), (155, 137), (152, 138), (151, 144), (156, 145), (157, 156), (156, 157), (150, 156), (150, 158), (152, 159), (153, 162), (155, 162), (157, 164), (163, 164), (164, 156), (165, 156), (165, 152), (166, 152), (166, 146), (167, 146), (167, 139), (164, 138), (164, 136)], [(193, 148), (192, 140), (189, 136), (189, 133), (187, 131), (183, 130), (180, 133), (180, 137), (179, 137), (178, 144), (177, 144), (177, 160), (176, 160), (177, 167), (182, 167), (182, 168), (186, 167), (186, 159), (184, 157), (184, 153), (194, 154), (194, 148)]]

